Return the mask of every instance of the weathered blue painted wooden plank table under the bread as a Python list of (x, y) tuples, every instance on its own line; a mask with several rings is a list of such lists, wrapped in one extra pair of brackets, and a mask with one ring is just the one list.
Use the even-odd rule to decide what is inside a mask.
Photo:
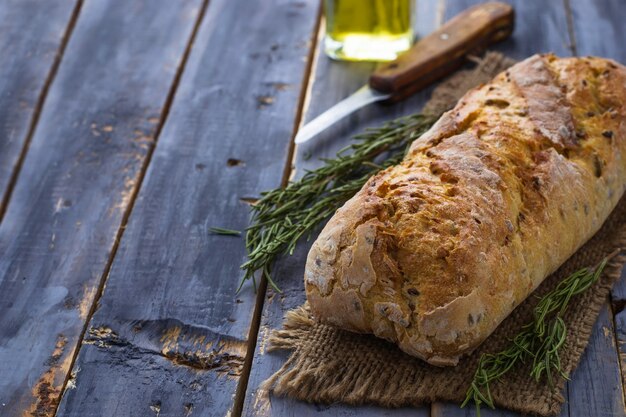
[[(507, 55), (626, 63), (623, 0), (509, 2)], [(418, 34), (475, 3), (418, 0)], [(0, 2), (0, 416), (474, 415), (258, 396), (285, 359), (267, 338), (304, 300), (307, 247), (277, 266), (282, 294), (235, 294), (242, 240), (208, 229), (243, 229), (261, 191), (429, 95), (296, 148), (374, 68), (331, 62), (322, 32), (317, 0)], [(563, 416), (626, 414), (625, 304), (622, 280)]]

